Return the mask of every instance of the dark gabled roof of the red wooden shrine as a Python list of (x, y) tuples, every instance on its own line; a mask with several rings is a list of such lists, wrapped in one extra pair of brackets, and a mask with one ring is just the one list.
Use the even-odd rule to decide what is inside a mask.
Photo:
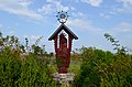
[(62, 24), (48, 39), (50, 41), (55, 40), (55, 37), (58, 35), (58, 33), (64, 30), (69, 36), (72, 36), (75, 40), (78, 40), (78, 37), (65, 25)]

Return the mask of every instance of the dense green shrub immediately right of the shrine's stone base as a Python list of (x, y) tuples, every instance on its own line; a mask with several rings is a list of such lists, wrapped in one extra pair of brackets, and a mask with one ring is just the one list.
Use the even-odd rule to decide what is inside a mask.
[(113, 61), (113, 54), (92, 47), (84, 48), (80, 74), (76, 77), (77, 87), (100, 86), (103, 69)]

